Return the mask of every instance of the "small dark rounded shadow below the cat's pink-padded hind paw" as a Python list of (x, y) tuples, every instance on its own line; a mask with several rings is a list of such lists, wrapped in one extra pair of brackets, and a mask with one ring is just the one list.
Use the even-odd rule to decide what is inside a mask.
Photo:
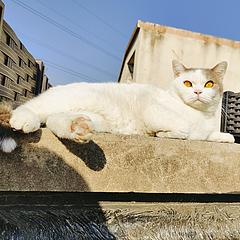
[(103, 150), (94, 142), (77, 143), (68, 139), (59, 139), (66, 148), (81, 158), (86, 166), (94, 171), (101, 171), (106, 165), (106, 157)]

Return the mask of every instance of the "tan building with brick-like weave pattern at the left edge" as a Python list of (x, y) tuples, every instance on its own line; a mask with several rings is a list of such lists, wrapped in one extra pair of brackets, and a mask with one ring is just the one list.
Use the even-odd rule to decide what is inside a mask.
[(36, 60), (3, 19), (0, 1), (0, 100), (22, 104), (50, 87), (44, 64)]

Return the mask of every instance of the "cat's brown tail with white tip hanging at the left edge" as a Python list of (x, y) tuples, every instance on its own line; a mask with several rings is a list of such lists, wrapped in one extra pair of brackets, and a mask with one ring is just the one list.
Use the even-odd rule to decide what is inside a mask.
[(12, 152), (17, 143), (9, 124), (12, 106), (7, 102), (0, 103), (0, 150), (6, 153)]

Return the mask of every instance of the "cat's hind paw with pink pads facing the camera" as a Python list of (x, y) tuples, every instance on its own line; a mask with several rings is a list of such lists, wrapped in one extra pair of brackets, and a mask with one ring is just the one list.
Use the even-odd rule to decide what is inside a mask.
[(72, 138), (76, 141), (88, 141), (93, 134), (93, 124), (87, 116), (79, 116), (71, 124)]

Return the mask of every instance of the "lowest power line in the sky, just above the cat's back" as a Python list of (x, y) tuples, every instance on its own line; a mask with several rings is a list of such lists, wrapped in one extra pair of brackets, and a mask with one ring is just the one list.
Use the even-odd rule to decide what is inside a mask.
[(68, 53), (65, 53), (65, 52), (63, 52), (63, 51), (61, 51), (61, 50), (59, 50), (59, 49), (57, 49), (57, 48), (55, 48), (55, 47), (53, 47), (53, 46), (51, 46), (49, 44), (43, 43), (43, 42), (41, 42), (41, 41), (39, 41), (39, 40), (37, 40), (37, 39), (35, 39), (33, 37), (29, 37), (25, 33), (21, 32), (21, 34), (23, 36), (25, 36), (26, 38), (28, 38), (29, 40), (31, 40), (31, 42), (33, 42), (33, 43), (35, 43), (35, 44), (37, 44), (39, 46), (42, 46), (42, 47), (44, 47), (46, 49), (49, 49), (50, 51), (55, 52), (55, 53), (57, 53), (60, 56), (67, 57), (67, 58), (71, 59), (72, 61), (78, 62), (78, 63), (80, 63), (82, 65), (87, 66), (88, 68), (94, 69), (95, 71), (98, 71), (98, 72), (103, 73), (105, 75), (108, 75), (108, 76), (111, 76), (111, 77), (115, 77), (112, 73), (108, 72), (107, 70), (101, 69), (101, 68), (99, 68), (99, 67), (97, 67), (97, 66), (95, 66), (93, 64), (90, 64), (90, 63), (88, 63), (86, 61), (83, 61), (83, 60), (81, 60), (81, 59), (79, 59), (79, 58), (77, 58), (75, 56), (72, 56), (72, 55), (70, 55)]

